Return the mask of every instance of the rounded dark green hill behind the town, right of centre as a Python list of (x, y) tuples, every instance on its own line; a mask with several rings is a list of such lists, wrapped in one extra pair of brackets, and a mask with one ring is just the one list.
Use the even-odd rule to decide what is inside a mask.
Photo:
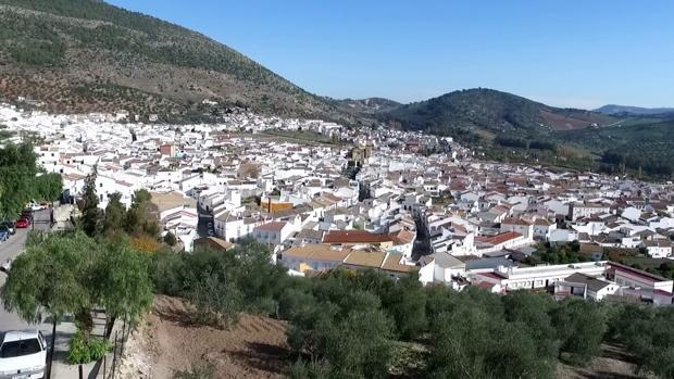
[(537, 137), (552, 130), (604, 126), (615, 119), (576, 109), (559, 109), (492, 89), (467, 89), (378, 115), (380, 121), (437, 134), (476, 132), (482, 136), (517, 134)]

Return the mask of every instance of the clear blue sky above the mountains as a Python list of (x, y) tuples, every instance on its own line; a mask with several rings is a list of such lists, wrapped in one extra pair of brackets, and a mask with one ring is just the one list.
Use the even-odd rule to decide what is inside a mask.
[(674, 106), (671, 0), (109, 0), (334, 98), (486, 87), (552, 105)]

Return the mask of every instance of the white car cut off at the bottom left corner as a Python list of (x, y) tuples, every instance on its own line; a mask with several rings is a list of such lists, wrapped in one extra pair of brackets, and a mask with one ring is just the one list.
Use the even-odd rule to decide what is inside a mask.
[(39, 330), (4, 332), (0, 344), (0, 378), (41, 379), (47, 366), (47, 341)]

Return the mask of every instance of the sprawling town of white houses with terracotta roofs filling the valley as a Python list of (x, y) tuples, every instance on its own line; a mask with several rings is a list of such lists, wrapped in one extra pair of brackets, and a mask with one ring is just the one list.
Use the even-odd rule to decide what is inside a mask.
[(374, 269), (454, 290), (673, 304), (671, 182), (486, 162), (451, 138), (380, 126), (127, 118), (0, 106), (9, 140), (38, 141), (39, 164), (62, 176), (63, 203), (92, 172), (102, 209), (146, 189), (162, 236), (188, 253), (254, 239), (295, 276)]

